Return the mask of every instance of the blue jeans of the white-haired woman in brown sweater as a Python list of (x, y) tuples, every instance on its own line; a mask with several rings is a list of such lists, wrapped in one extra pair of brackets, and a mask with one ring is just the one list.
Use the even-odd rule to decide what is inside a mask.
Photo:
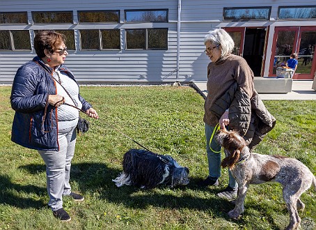
[[(218, 152), (218, 151), (221, 151), (221, 145), (215, 140), (214, 137), (210, 143), (210, 139), (212, 137), (214, 128), (215, 127), (212, 127), (205, 123), (206, 152), (207, 152), (207, 160), (209, 163), (209, 176), (210, 178), (212, 178), (212, 180), (215, 181), (221, 176), (221, 153), (214, 153), (211, 150), (211, 148), (214, 151)], [(229, 169), (228, 169), (228, 174), (229, 174), (228, 185), (230, 187), (237, 187), (237, 182), (235, 181), (235, 178), (230, 173)]]

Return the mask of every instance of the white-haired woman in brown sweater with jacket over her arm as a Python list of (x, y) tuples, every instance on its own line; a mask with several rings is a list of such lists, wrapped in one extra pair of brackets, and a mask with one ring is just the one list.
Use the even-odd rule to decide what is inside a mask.
[[(246, 60), (231, 54), (234, 42), (230, 35), (223, 29), (214, 29), (205, 36), (204, 44), (205, 54), (211, 60), (207, 66), (203, 118), (209, 176), (198, 184), (216, 186), (221, 176), (221, 145), (212, 139), (216, 126), (237, 130), (253, 149), (274, 127), (276, 120), (258, 97), (253, 71)], [(228, 186), (217, 195), (228, 200), (237, 197), (237, 183), (230, 171)]]

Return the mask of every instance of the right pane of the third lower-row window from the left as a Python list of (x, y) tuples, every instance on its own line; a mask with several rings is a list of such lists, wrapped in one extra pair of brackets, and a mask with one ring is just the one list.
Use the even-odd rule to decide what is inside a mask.
[(120, 29), (104, 29), (101, 36), (102, 49), (120, 49)]

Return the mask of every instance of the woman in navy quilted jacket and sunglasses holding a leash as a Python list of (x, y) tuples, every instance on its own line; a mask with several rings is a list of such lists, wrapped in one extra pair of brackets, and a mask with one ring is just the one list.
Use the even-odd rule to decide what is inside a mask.
[(11, 140), (38, 151), (46, 164), (48, 205), (55, 217), (70, 221), (62, 197), (84, 200), (70, 187), (79, 110), (63, 103), (84, 110), (92, 118), (99, 116), (81, 97), (74, 75), (63, 65), (68, 55), (65, 36), (40, 31), (35, 35), (34, 49), (37, 56), (17, 70), (13, 81), (10, 102), (15, 116)]

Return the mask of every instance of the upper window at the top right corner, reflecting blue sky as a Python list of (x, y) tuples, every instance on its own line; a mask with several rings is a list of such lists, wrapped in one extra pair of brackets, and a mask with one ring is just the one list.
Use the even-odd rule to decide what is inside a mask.
[(316, 6), (281, 6), (278, 8), (278, 19), (316, 19)]

